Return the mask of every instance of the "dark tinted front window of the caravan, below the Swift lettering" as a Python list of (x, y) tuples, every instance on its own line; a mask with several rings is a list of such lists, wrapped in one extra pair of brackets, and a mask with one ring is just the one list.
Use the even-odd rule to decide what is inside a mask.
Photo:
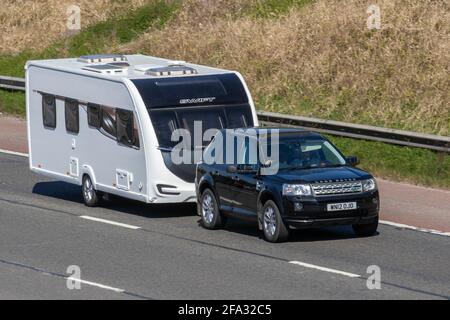
[(250, 105), (202, 106), (171, 109), (148, 109), (160, 147), (172, 148), (179, 141), (172, 141), (176, 129), (186, 129), (191, 135), (192, 148), (204, 147), (209, 141), (194, 140), (194, 124), (201, 127), (201, 136), (208, 129), (252, 127), (253, 117)]

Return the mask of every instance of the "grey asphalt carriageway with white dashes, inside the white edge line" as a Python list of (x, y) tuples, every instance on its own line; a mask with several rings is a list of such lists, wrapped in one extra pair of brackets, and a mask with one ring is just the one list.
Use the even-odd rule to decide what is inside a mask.
[[(0, 154), (0, 299), (450, 298), (447, 236), (380, 225), (370, 238), (338, 227), (270, 244), (248, 223), (198, 221), (192, 205), (87, 208), (78, 187)], [(73, 265), (81, 289), (67, 287)], [(370, 265), (381, 289), (367, 288)]]

